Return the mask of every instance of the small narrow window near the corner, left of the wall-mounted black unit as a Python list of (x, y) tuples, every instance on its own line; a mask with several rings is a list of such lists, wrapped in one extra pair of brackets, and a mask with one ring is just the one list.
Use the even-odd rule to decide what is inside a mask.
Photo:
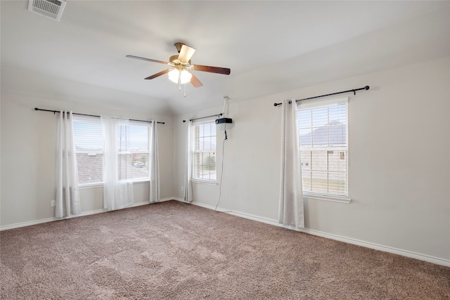
[(216, 181), (216, 124), (192, 125), (192, 178)]

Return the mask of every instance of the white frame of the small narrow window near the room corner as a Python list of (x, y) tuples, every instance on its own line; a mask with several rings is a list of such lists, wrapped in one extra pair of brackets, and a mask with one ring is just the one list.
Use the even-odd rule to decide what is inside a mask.
[[(211, 150), (195, 150), (195, 126), (200, 126), (200, 125), (204, 125), (204, 124), (212, 124), (214, 126), (214, 149)], [(213, 136), (210, 136), (213, 137)], [(207, 120), (207, 121), (202, 121), (202, 122), (193, 122), (191, 124), (191, 181), (195, 182), (195, 183), (205, 183), (205, 184), (210, 184), (210, 185), (217, 185), (217, 125), (215, 120)], [(195, 177), (195, 170), (196, 170), (196, 166), (195, 166), (195, 154), (196, 153), (210, 153), (213, 152), (214, 153), (214, 157), (215, 157), (215, 163), (214, 163), (214, 171), (216, 174), (216, 178), (215, 179), (206, 179), (206, 178), (198, 178)]]

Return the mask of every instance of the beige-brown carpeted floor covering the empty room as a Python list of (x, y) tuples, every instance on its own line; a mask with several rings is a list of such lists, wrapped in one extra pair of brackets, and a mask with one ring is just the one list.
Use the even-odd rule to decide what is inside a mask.
[(450, 268), (176, 201), (0, 232), (0, 299), (450, 299)]

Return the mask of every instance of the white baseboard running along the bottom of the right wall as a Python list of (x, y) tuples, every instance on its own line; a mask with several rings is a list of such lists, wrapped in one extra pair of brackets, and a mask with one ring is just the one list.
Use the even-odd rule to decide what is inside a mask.
[[(178, 200), (178, 199), (175, 199)], [(182, 202), (185, 202), (184, 200), (181, 199)], [(212, 205), (208, 205), (208, 204), (203, 204), (200, 202), (191, 202), (191, 204), (196, 205), (198, 207), (205, 207), (207, 209), (215, 209), (215, 207), (213, 207)], [(418, 259), (420, 261), (428, 261), (429, 263), (436, 263), (437, 265), (441, 265), (441, 266), (447, 266), (450, 267), (450, 260), (448, 259), (440, 259), (439, 257), (435, 257), (435, 256), (430, 256), (430, 255), (426, 255), (426, 254), (420, 254), (420, 253), (416, 253), (416, 252), (411, 252), (411, 251), (407, 251), (407, 250), (403, 250), (403, 249), (397, 249), (394, 247), (388, 247), (388, 246), (384, 246), (382, 244), (375, 244), (372, 242), (365, 242), (362, 240), (356, 240), (350, 237), (342, 237), (340, 235), (333, 235), (332, 233), (324, 233), (323, 231), (319, 231), (319, 230), (314, 230), (314, 229), (309, 229), (309, 228), (301, 228), (301, 229), (294, 229), (290, 226), (284, 226), (280, 223), (278, 223), (277, 220), (274, 219), (267, 219), (267, 218), (262, 218), (260, 216), (255, 216), (252, 214), (245, 214), (242, 212), (238, 212), (238, 211), (227, 211), (224, 209), (219, 209), (217, 208), (217, 211), (221, 211), (224, 212), (226, 214), (232, 214), (233, 216), (240, 216), (242, 218), (245, 219), (250, 219), (253, 221), (258, 221), (258, 222), (262, 222), (262, 223), (266, 223), (266, 224), (270, 224), (270, 225), (274, 225), (274, 226), (278, 226), (278, 227), (282, 227), (282, 228), (286, 228), (286, 229), (293, 229), (293, 230), (297, 230), (300, 231), (302, 233), (308, 233), (310, 235), (317, 235), (319, 237), (326, 237), (330, 240), (338, 240), (340, 242), (347, 242), (349, 244), (356, 244), (358, 246), (361, 247), (366, 247), (366, 248), (370, 248), (370, 249), (375, 249), (375, 250), (379, 250), (379, 251), (383, 251), (383, 252), (389, 252), (392, 254), (398, 254), (401, 256), (406, 256), (406, 257), (410, 257), (411, 259)]]

